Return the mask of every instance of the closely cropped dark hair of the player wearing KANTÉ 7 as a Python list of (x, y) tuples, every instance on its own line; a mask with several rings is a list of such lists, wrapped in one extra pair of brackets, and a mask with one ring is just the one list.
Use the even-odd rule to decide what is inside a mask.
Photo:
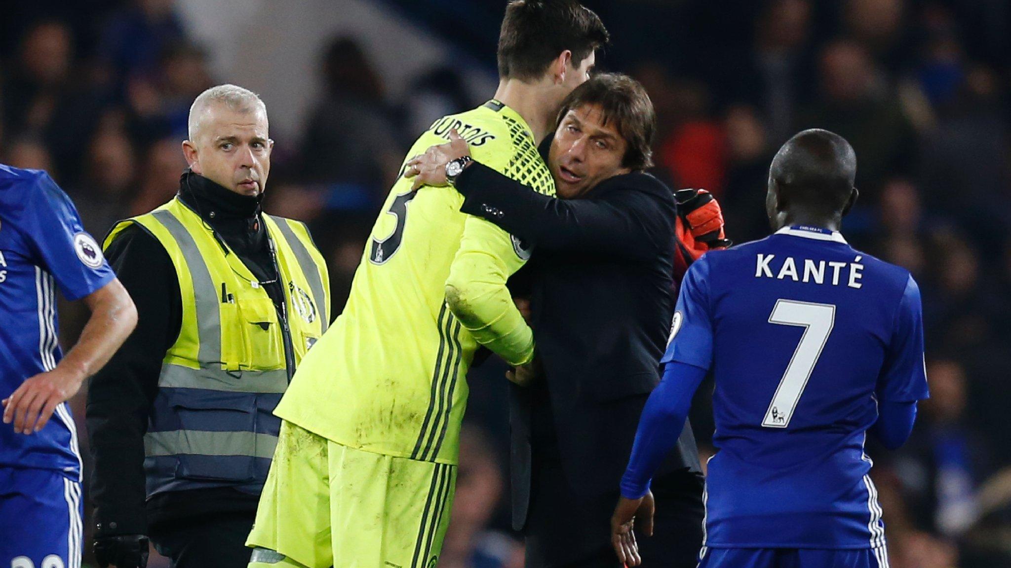
[(783, 145), (768, 177), (792, 203), (824, 215), (845, 212), (856, 178), (856, 154), (839, 134), (811, 128)]

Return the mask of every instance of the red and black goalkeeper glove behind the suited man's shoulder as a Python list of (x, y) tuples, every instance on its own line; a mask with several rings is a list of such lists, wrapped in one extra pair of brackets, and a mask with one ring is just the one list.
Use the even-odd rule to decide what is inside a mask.
[(723, 210), (705, 189), (681, 189), (674, 192), (677, 202), (674, 254), (674, 279), (678, 282), (699, 257), (709, 251), (733, 245), (723, 230)]

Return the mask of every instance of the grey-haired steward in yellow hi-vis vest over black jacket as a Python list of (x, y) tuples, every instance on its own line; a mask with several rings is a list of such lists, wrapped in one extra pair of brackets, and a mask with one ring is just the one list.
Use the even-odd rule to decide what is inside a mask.
[(88, 393), (99, 564), (143, 568), (150, 537), (177, 568), (245, 568), (274, 407), (330, 322), (306, 226), (261, 211), (266, 115), (238, 89), (197, 98), (179, 193), (103, 244), (140, 320)]

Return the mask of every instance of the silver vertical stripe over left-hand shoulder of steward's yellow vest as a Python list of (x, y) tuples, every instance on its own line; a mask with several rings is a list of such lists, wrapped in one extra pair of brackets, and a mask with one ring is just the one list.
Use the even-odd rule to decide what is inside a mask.
[(197, 337), (200, 341), (197, 360), (200, 361), (201, 367), (219, 365), (221, 363), (221, 316), (217, 307), (219, 301), (217, 289), (214, 287), (214, 281), (210, 279), (210, 270), (203, 262), (203, 256), (200, 254), (196, 242), (193, 241), (193, 236), (175, 215), (167, 209), (162, 209), (153, 212), (152, 216), (158, 219), (176, 240), (193, 278)]

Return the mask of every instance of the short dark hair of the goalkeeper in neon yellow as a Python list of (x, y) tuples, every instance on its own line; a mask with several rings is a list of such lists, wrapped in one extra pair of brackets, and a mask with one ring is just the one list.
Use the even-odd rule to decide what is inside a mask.
[(498, 34), (498, 76), (539, 79), (565, 50), (579, 66), (610, 38), (601, 18), (575, 0), (513, 0)]

